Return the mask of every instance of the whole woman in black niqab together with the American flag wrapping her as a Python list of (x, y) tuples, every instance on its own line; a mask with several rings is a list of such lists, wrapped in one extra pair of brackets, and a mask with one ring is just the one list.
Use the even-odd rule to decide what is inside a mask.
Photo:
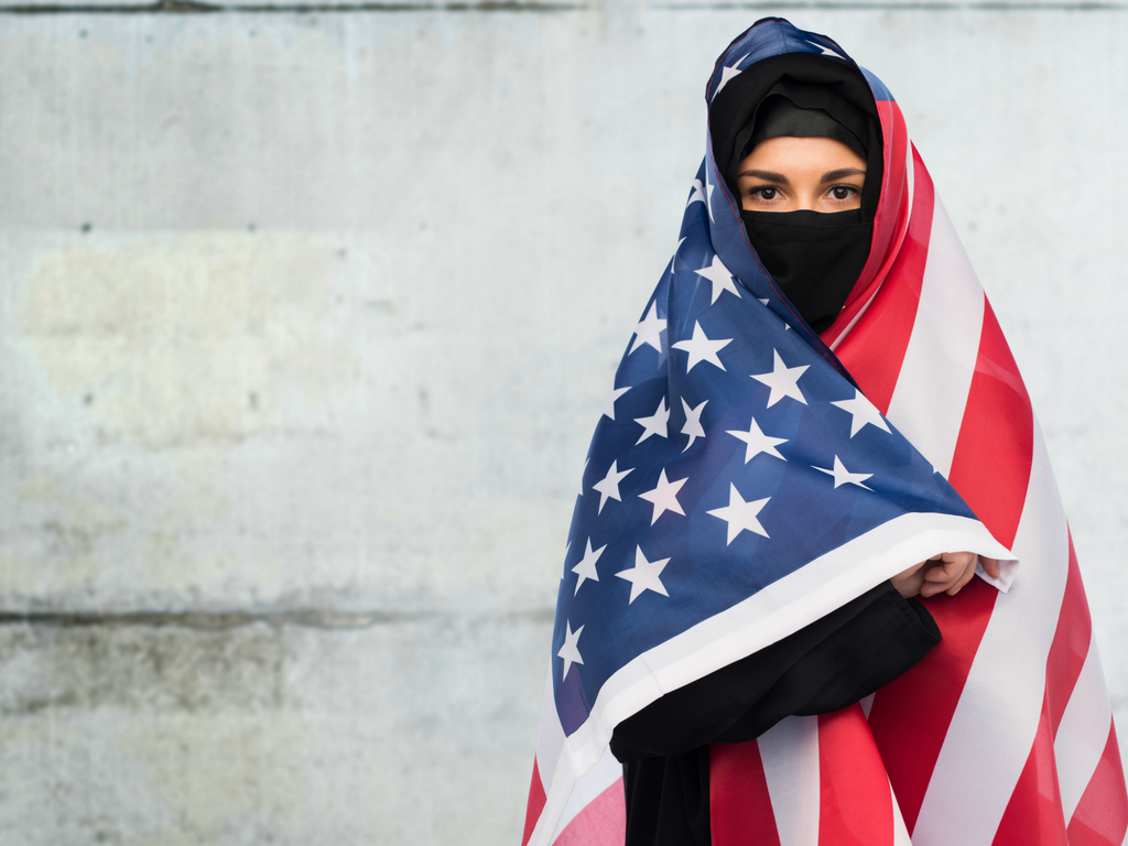
[(1121, 843), (1045, 450), (896, 104), (778, 19), (706, 97), (589, 453), (527, 839)]

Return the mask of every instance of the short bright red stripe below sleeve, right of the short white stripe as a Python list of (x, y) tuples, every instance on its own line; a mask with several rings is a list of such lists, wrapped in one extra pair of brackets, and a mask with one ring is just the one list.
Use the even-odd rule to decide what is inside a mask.
[(819, 844), (893, 841), (889, 777), (861, 705), (819, 716)]

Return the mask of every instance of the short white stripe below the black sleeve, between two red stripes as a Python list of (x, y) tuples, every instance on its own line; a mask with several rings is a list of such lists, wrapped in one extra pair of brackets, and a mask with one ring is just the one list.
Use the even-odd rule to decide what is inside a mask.
[(756, 742), (779, 846), (818, 846), (819, 717), (788, 716)]

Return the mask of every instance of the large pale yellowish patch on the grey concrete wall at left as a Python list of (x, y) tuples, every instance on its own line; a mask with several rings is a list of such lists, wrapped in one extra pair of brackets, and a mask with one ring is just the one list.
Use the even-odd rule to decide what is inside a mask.
[(358, 305), (334, 305), (350, 284), (329, 271), (335, 252), (275, 232), (71, 241), (20, 287), (12, 343), (45, 389), (80, 400), (100, 446), (238, 444), (319, 424), (363, 369), (338, 332)]

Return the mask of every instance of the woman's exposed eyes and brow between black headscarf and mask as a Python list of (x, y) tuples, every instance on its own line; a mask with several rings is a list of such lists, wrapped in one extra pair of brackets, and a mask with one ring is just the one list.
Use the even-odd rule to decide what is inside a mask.
[(862, 208), (865, 159), (832, 138), (769, 138), (741, 159), (747, 211), (846, 211)]

